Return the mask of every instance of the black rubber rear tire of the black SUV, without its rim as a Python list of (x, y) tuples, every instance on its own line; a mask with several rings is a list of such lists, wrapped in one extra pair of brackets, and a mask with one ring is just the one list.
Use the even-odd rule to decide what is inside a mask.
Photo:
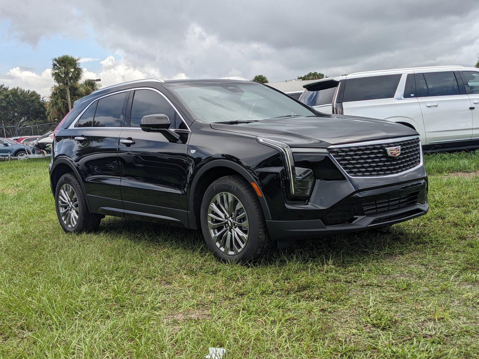
[[(73, 188), (78, 200), (78, 220), (76, 224), (71, 227), (67, 226), (63, 221), (62, 216), (60, 215), (60, 204), (58, 202), (60, 190), (65, 184), (68, 184)], [(73, 173), (66, 173), (58, 180), (57, 188), (55, 190), (55, 208), (57, 209), (58, 222), (67, 233), (94, 232), (100, 226), (100, 221), (103, 218), (100, 214), (90, 213), (88, 211), (87, 202), (85, 201), (85, 195), (81, 190), (80, 182)]]

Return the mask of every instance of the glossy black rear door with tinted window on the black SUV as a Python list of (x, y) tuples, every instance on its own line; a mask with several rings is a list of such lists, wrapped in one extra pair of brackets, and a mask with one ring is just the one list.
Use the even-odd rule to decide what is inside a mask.
[(125, 90), (93, 101), (79, 120), (70, 126), (71, 152), (83, 177), (93, 211), (100, 207), (123, 210), (118, 139), (124, 123), (128, 93)]

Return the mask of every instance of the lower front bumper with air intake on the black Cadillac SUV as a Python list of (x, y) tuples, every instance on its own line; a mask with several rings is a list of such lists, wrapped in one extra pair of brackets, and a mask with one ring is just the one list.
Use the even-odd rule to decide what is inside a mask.
[(331, 206), (320, 218), (271, 220), (266, 221), (266, 224), (274, 240), (305, 239), (404, 222), (419, 217), (428, 210), (427, 180), (421, 179), (356, 191)]

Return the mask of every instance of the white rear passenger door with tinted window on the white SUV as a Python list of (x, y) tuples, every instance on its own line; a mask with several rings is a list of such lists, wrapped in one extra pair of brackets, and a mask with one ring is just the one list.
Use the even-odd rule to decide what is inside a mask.
[[(457, 74), (457, 76), (459, 76)], [(415, 72), (427, 144), (469, 140), (470, 102), (454, 71)]]

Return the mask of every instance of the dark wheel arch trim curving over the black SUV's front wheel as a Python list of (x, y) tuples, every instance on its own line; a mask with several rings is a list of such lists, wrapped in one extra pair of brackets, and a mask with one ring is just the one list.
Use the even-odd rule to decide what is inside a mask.
[[(190, 228), (201, 228), (200, 208), (203, 200), (202, 194), (213, 181), (229, 175), (241, 176), (250, 183), (250, 185), (251, 182), (258, 182), (249, 171), (232, 161), (216, 159), (203, 165), (194, 176), (190, 191), (188, 192), (188, 222)], [(261, 204), (265, 219), (271, 219), (271, 214), (264, 197), (258, 197), (258, 200)]]

